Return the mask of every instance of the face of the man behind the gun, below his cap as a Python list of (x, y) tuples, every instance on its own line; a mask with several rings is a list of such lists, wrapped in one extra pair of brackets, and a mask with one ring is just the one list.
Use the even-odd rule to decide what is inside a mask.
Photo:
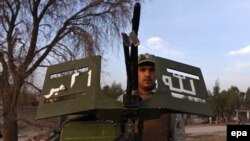
[(139, 89), (152, 90), (155, 84), (156, 74), (154, 65), (138, 66)]

